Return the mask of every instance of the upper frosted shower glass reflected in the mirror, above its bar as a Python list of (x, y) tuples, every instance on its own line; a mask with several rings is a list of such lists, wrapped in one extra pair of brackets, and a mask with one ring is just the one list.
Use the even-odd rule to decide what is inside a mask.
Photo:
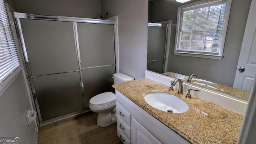
[(164, 59), (166, 27), (148, 26), (148, 60)]

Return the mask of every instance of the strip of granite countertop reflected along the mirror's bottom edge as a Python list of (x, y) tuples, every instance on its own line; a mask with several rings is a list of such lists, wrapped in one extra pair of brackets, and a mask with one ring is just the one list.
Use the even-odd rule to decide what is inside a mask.
[[(184, 81), (186, 81), (189, 78), (189, 76), (185, 76), (185, 75), (182, 75), (182, 74), (176, 74), (174, 72), (166, 72), (166, 73), (163, 73), (163, 74), (166, 75), (166, 76), (171, 76), (173, 78), (179, 78), (179, 79), (184, 80)], [(238, 98), (238, 99), (241, 99), (241, 100), (248, 101), (249, 96), (250, 96), (250, 92), (240, 90), (238, 88), (232, 88), (230, 86), (225, 86), (223, 84), (217, 84), (217, 83), (210, 82), (210, 81), (207, 81), (207, 80), (202, 80), (202, 79), (199, 79), (199, 78), (193, 78), (191, 80), (191, 82), (202, 82), (204, 84), (209, 84), (211, 86), (214, 86), (214, 87), (218, 88), (219, 90), (194, 83), (194, 85), (196, 85), (196, 86), (201, 86), (203, 88), (207, 88), (207, 89), (210, 89), (210, 90), (214, 90), (214, 91), (217, 91), (217, 92), (222, 92), (224, 94), (228, 94), (232, 97), (235, 97), (235, 98)]]

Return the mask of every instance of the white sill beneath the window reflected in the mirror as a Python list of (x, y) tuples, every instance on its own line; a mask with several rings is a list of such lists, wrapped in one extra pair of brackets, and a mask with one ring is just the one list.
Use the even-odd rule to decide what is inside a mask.
[(211, 54), (196, 54), (196, 53), (187, 53), (187, 52), (172, 52), (176, 56), (190, 56), (197, 58), (210, 58), (215, 60), (221, 60), (224, 56), (211, 55)]

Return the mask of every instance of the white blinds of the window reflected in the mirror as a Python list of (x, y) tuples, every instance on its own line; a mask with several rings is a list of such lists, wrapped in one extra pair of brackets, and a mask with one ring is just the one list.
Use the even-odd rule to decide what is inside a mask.
[(227, 1), (180, 9), (176, 52), (219, 55)]

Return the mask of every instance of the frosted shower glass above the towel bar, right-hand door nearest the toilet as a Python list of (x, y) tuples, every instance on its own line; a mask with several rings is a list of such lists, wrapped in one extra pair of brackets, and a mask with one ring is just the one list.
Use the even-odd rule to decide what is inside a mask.
[(111, 24), (77, 23), (81, 67), (114, 64), (114, 33)]

